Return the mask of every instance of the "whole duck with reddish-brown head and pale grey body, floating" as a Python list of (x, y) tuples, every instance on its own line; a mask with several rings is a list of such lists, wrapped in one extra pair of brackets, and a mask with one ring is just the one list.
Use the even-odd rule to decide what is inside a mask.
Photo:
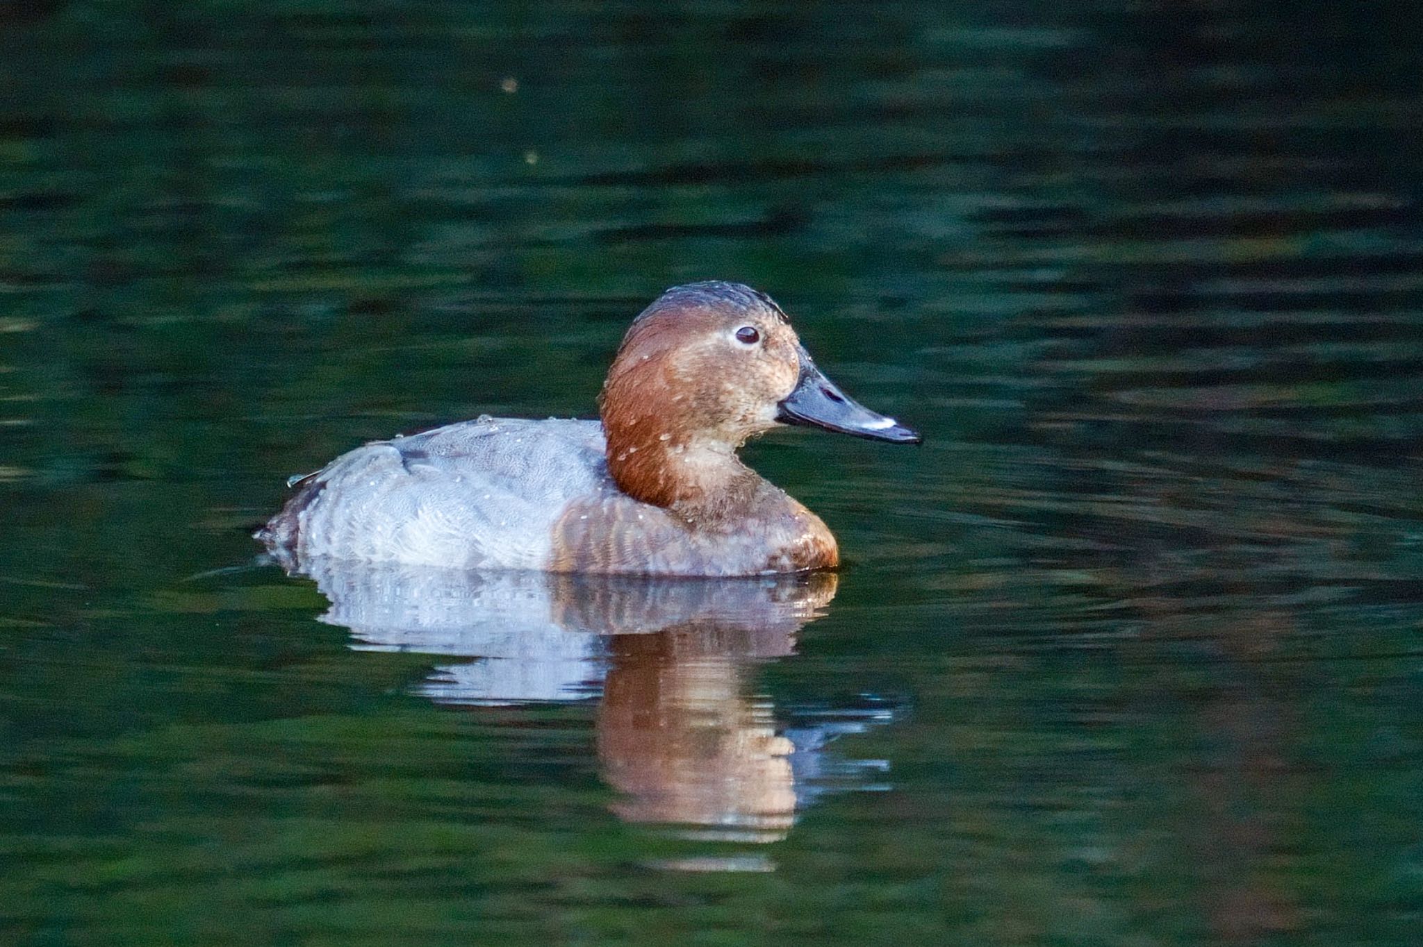
[(835, 536), (737, 451), (781, 425), (921, 437), (847, 395), (785, 311), (743, 283), (675, 286), (632, 323), (599, 419), (480, 415), (373, 441), (289, 485), (258, 533), (316, 559), (551, 573), (754, 576), (834, 569)]

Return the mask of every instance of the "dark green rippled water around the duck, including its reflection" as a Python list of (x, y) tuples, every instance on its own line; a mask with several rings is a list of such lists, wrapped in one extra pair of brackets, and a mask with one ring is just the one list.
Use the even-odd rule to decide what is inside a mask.
[[(0, 941), (1417, 943), (1417, 17), (0, 3)], [(926, 437), (748, 449), (822, 617), (252, 565), (706, 277)]]

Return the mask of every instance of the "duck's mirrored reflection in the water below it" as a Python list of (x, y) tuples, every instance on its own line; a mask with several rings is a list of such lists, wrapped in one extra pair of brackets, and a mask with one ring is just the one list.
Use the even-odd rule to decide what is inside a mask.
[(418, 692), (447, 705), (589, 700), (596, 747), (630, 822), (699, 838), (768, 842), (831, 788), (884, 765), (827, 744), (894, 718), (884, 701), (777, 714), (753, 668), (794, 653), (835, 596), (834, 573), (647, 579), (471, 573), (307, 562), (353, 647), (480, 658), (440, 665)]

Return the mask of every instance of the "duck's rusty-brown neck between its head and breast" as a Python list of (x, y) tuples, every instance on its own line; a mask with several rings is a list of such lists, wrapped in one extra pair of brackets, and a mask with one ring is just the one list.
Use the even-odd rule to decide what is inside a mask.
[(736, 456), (730, 444), (709, 438), (608, 428), (608, 472), (619, 489), (684, 520), (693, 529), (719, 529), (750, 509), (766, 481)]

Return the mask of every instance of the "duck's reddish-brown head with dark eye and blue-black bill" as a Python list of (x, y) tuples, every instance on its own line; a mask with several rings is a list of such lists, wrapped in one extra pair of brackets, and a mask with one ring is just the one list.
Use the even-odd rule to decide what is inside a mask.
[(841, 391), (781, 307), (740, 283), (689, 283), (659, 296), (623, 337), (599, 404), (613, 476), (657, 505), (669, 503), (649, 485), (667, 476), (650, 465), (666, 466), (669, 455), (684, 464), (727, 455), (781, 424), (919, 442)]

